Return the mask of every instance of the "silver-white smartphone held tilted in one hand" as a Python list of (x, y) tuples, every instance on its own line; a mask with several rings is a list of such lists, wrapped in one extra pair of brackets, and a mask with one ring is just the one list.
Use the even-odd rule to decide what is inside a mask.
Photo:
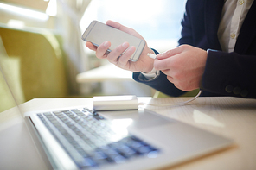
[(91, 22), (89, 27), (86, 28), (86, 31), (82, 35), (82, 40), (90, 41), (97, 47), (105, 41), (110, 41), (111, 47), (107, 50), (108, 52), (111, 52), (114, 48), (126, 41), (129, 43), (130, 47), (136, 47), (135, 52), (131, 55), (131, 61), (138, 60), (145, 46), (144, 40), (97, 21)]

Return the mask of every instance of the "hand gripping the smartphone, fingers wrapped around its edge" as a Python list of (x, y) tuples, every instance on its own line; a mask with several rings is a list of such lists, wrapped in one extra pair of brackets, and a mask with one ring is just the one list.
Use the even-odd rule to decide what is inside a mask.
[[(135, 30), (133, 30), (132, 28), (127, 28), (118, 22), (107, 21), (106, 24), (144, 40), (144, 38), (139, 35)], [(105, 41), (104, 43), (99, 45), (99, 47), (93, 46), (91, 42), (86, 42), (86, 47), (95, 51), (97, 58), (107, 59), (112, 64), (120, 68), (130, 70), (132, 72), (150, 72), (153, 69), (154, 60), (150, 59), (147, 54), (154, 54), (154, 52), (147, 46), (147, 44), (145, 45), (142, 54), (136, 62), (132, 62), (131, 60), (129, 60), (131, 55), (135, 52), (136, 48), (129, 47), (128, 42), (124, 42), (123, 44), (120, 44), (117, 48), (113, 49), (110, 53), (106, 53), (106, 50), (110, 46), (110, 41)]]

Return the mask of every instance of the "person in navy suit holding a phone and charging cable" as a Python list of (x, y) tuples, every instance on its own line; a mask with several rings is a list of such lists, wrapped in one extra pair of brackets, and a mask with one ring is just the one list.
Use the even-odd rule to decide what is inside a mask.
[[(135, 47), (129, 47), (127, 42), (109, 54), (109, 41), (99, 47), (87, 42), (86, 47), (96, 51), (99, 59), (106, 58), (134, 72), (136, 81), (171, 96), (200, 88), (201, 96), (256, 98), (254, 18), (253, 0), (188, 0), (175, 49), (158, 54), (145, 45), (139, 60), (132, 62), (129, 58)], [(106, 24), (143, 39), (135, 30), (117, 22)], [(157, 60), (150, 59), (148, 53), (157, 54)]]

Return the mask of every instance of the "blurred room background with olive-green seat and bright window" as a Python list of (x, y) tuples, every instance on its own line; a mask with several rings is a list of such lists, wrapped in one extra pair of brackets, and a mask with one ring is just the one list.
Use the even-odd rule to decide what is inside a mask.
[[(154, 90), (132, 80), (132, 72), (98, 60), (80, 37), (93, 20), (113, 20), (134, 28), (149, 47), (164, 52), (177, 45), (184, 5), (185, 0), (0, 0), (1, 65), (19, 103), (153, 96)], [(0, 75), (0, 111), (10, 107), (3, 82)]]

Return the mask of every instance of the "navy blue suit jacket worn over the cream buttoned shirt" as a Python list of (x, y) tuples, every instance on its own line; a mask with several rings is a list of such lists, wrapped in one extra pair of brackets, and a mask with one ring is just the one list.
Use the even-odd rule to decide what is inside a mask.
[[(256, 2), (243, 22), (233, 53), (221, 52), (217, 36), (223, 4), (224, 0), (188, 0), (179, 44), (208, 50), (201, 96), (256, 98)], [(139, 72), (133, 73), (136, 81), (170, 96), (184, 93), (163, 72), (151, 81), (140, 80), (139, 76)]]

